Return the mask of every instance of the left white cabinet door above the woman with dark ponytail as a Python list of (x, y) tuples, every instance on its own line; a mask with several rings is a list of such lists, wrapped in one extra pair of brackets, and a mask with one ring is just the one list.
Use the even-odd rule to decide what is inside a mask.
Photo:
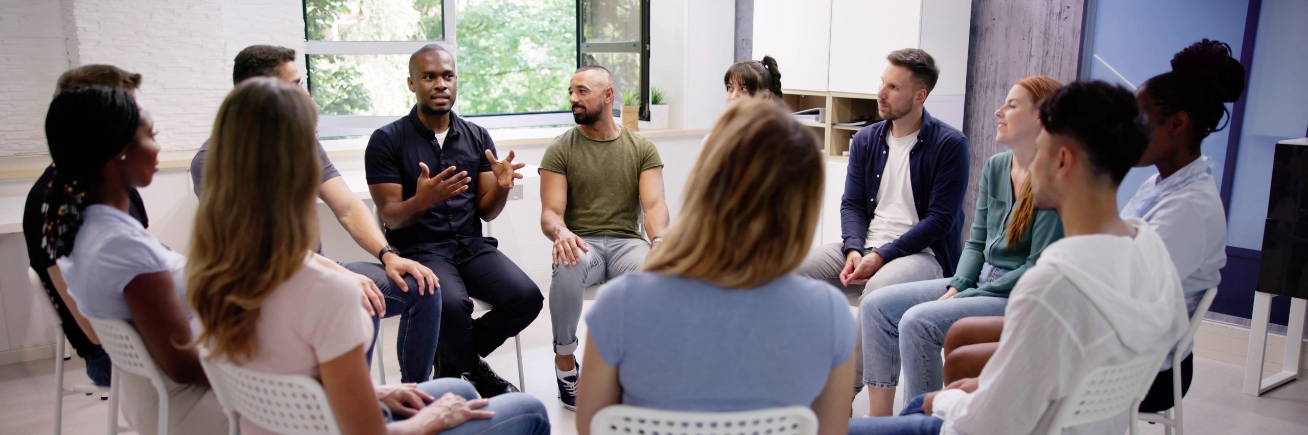
[(829, 42), (831, 0), (755, 1), (753, 60), (776, 57), (782, 88), (825, 91)]

